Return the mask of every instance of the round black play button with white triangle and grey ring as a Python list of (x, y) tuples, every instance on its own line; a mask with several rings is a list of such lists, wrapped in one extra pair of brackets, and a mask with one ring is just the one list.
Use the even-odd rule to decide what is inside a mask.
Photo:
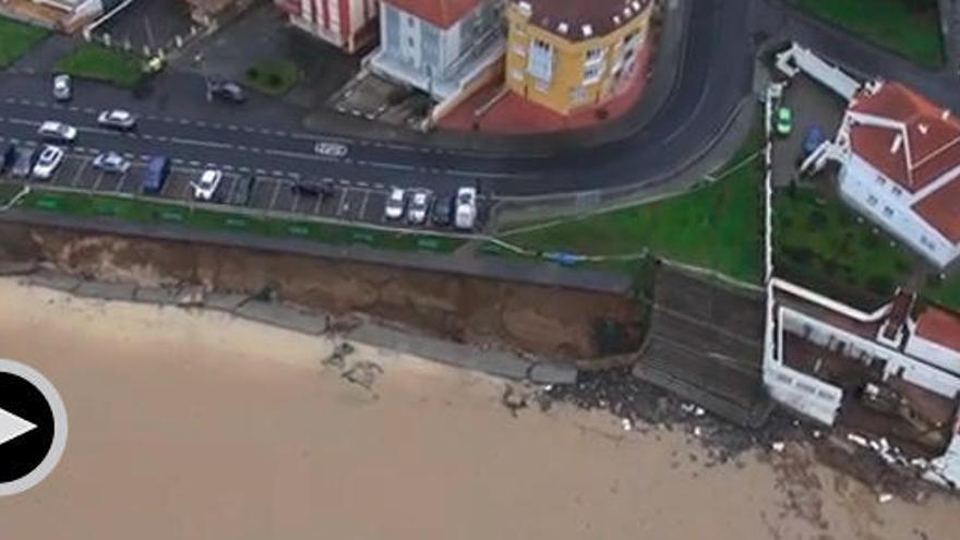
[(0, 359), (0, 495), (15, 495), (52, 472), (67, 447), (67, 409), (33, 368)]

